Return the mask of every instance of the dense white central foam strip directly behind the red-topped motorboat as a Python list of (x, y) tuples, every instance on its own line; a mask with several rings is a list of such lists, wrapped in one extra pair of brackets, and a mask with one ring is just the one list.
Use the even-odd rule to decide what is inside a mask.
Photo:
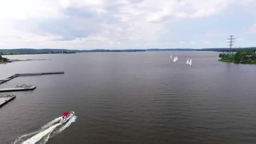
[(30, 139), (27, 139), (22, 144), (35, 144), (37, 141), (42, 139), (45, 135), (50, 134), (57, 126), (61, 125), (62, 123), (57, 123), (52, 125), (50, 128), (47, 128), (45, 131), (37, 133), (35, 136), (32, 136)]

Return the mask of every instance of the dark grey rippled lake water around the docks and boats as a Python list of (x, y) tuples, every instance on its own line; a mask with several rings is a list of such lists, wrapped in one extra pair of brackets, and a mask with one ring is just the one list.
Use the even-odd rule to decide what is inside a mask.
[[(178, 55), (179, 61), (170, 59)], [(205, 51), (5, 56), (0, 88), (34, 84), (0, 108), (0, 144), (255, 144), (256, 65)], [(186, 65), (192, 58), (192, 66)], [(168, 83), (168, 85), (167, 85)], [(65, 111), (74, 111), (58, 124)]]

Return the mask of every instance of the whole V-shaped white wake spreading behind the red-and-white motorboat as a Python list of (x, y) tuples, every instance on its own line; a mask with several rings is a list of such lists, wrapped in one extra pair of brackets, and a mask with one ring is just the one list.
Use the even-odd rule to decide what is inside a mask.
[(45, 144), (49, 138), (53, 138), (57, 134), (64, 131), (71, 123), (75, 122), (77, 116), (73, 116), (67, 123), (59, 123), (61, 117), (58, 117), (51, 122), (43, 125), (38, 131), (25, 134), (18, 139), (15, 139), (11, 144)]

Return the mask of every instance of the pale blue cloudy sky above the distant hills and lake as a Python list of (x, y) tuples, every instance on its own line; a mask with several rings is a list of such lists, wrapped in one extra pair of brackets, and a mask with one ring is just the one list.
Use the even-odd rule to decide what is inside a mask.
[(1, 0), (0, 49), (256, 46), (256, 0)]

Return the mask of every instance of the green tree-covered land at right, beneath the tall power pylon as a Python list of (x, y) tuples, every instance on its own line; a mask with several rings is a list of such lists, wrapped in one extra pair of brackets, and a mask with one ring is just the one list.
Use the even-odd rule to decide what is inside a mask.
[(221, 58), (219, 61), (224, 61), (224, 62), (256, 64), (256, 49), (251, 48), (251, 49), (237, 50), (235, 54), (220, 53), (219, 57)]

